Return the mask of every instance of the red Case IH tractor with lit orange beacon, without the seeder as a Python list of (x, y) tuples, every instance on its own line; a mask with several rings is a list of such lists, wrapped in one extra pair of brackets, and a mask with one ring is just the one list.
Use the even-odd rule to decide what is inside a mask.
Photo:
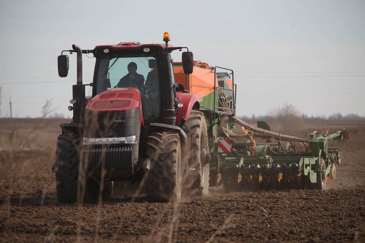
[[(194, 195), (208, 192), (208, 137), (199, 101), (174, 82), (174, 50), (182, 53), (184, 73), (193, 69), (187, 47), (168, 44), (96, 46), (77, 53), (70, 123), (61, 124), (55, 160), (59, 203), (95, 202), (112, 196), (113, 181), (145, 187), (149, 201), (179, 201), (183, 185)], [(69, 59), (58, 56), (66, 77)], [(96, 58), (93, 82), (82, 83), (82, 54)], [(85, 97), (85, 85), (92, 96)], [(177, 93), (177, 91), (182, 91)], [(177, 105), (177, 102), (179, 105)]]

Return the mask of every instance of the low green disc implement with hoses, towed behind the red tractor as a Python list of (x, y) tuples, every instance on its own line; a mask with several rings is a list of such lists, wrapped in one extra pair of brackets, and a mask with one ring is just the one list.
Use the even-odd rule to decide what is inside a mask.
[[(250, 126), (253, 128), (253, 126)], [(258, 133), (260, 132), (260, 134)], [(247, 137), (266, 137), (255, 129)], [(312, 133), (313, 134), (313, 133)], [(314, 134), (318, 134), (314, 132)], [(329, 140), (348, 139), (346, 131), (310, 139), (276, 135), (278, 143), (287, 140), (285, 146), (278, 144), (231, 143), (231, 151), (211, 154), (211, 170), (222, 178), (224, 191), (268, 189), (320, 189), (317, 183), (326, 183), (328, 177), (335, 179), (335, 164), (341, 163), (338, 147), (328, 147)], [(290, 139), (290, 141), (288, 141)], [(227, 140), (225, 140), (227, 141)], [(295, 143), (300, 146), (296, 146)], [(305, 143), (305, 145), (304, 145)], [(251, 148), (255, 147), (254, 155)], [(212, 173), (213, 174), (213, 173)], [(318, 175), (319, 174), (319, 175)], [(324, 178), (320, 180), (320, 178)]]

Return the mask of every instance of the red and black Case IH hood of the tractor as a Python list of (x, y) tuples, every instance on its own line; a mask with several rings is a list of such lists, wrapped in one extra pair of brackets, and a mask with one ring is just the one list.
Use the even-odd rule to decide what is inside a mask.
[(138, 141), (144, 126), (141, 93), (136, 88), (115, 88), (96, 95), (88, 103), (84, 117), (84, 138), (137, 137), (136, 144), (109, 144), (105, 146), (133, 148), (138, 158)]

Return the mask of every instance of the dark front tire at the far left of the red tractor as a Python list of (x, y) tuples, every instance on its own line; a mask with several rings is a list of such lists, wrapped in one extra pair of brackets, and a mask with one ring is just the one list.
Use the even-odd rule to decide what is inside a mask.
[(55, 174), (58, 203), (77, 201), (80, 136), (61, 134), (58, 136)]

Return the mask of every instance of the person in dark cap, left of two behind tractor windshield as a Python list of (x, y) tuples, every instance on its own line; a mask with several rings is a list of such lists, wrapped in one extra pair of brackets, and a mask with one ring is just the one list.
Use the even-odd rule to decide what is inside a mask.
[(144, 93), (145, 77), (142, 74), (137, 73), (137, 64), (130, 62), (127, 66), (128, 74), (121, 78), (116, 87), (135, 87)]

